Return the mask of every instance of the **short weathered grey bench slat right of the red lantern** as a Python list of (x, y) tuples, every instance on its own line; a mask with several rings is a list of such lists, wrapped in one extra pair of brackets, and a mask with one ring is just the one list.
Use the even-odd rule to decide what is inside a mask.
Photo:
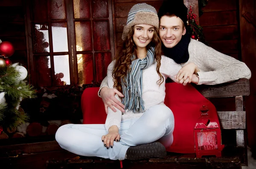
[(218, 112), (221, 129), (245, 129), (245, 111)]

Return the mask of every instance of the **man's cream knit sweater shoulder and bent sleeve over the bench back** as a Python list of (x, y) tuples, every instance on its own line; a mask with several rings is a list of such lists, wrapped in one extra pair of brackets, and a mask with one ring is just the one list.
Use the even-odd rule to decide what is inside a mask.
[(189, 43), (189, 60), (181, 66), (190, 62), (195, 63), (200, 69), (198, 85), (216, 85), (251, 77), (250, 69), (244, 62), (222, 54), (194, 39)]

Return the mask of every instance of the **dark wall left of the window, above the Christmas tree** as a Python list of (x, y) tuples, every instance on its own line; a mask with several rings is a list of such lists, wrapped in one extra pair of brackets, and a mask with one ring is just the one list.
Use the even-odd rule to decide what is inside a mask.
[(9, 59), (27, 68), (24, 15), (22, 0), (0, 0), (0, 39), (14, 45), (15, 53)]

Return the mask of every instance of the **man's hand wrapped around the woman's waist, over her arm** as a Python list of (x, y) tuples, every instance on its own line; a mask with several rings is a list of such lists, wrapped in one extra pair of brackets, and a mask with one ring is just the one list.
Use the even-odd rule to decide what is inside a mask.
[(122, 93), (120, 93), (118, 90), (110, 89), (108, 87), (103, 87), (100, 90), (99, 94), (102, 97), (102, 101), (104, 103), (105, 111), (107, 114), (108, 114), (108, 107), (110, 107), (113, 110), (113, 112), (116, 112), (116, 109), (114, 107), (116, 107), (117, 109), (119, 109), (122, 112), (125, 112), (125, 110), (124, 110), (125, 106), (119, 100), (117, 100), (115, 98), (116, 94), (119, 97), (124, 97), (124, 95), (122, 95)]

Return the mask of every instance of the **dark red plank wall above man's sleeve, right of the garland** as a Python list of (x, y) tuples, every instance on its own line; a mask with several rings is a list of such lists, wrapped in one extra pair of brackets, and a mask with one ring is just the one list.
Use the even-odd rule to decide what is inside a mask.
[(237, 0), (209, 0), (199, 18), (209, 46), (241, 60)]

